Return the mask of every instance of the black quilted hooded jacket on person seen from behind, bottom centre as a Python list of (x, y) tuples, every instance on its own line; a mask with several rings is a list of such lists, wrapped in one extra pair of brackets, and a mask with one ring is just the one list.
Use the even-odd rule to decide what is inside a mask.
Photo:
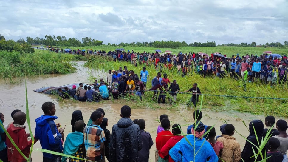
[(142, 149), (140, 128), (130, 118), (121, 118), (112, 127), (109, 162), (138, 162)]

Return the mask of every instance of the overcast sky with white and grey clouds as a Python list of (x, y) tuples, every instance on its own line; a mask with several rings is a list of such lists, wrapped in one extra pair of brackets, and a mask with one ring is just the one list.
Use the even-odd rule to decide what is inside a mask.
[(0, 34), (102, 40), (280, 42), (288, 40), (287, 0), (0, 0)]

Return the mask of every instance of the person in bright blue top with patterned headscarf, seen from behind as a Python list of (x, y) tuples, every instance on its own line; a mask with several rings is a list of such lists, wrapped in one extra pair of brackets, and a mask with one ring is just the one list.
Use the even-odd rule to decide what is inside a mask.
[[(217, 162), (218, 157), (209, 144), (203, 138), (205, 126), (197, 121), (191, 129), (192, 134), (187, 135), (175, 144), (169, 151), (169, 155), (174, 161), (197, 161), (197, 162)], [(196, 153), (197, 154), (194, 154)]]

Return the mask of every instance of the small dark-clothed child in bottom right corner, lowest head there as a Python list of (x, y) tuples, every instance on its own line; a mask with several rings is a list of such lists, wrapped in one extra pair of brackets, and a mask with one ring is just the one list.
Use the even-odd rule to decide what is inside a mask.
[(283, 161), (283, 155), (281, 152), (277, 151), (277, 148), (280, 146), (280, 141), (275, 138), (275, 137), (271, 137), (268, 140), (268, 144), (269, 144), (269, 150), (267, 152), (266, 157), (270, 157), (268, 158), (266, 161), (267, 162), (282, 162)]

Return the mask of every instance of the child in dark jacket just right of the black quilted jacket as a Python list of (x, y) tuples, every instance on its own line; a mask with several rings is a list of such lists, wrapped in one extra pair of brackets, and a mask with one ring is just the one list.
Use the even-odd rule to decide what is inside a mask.
[(151, 135), (149, 132), (145, 132), (145, 120), (144, 119), (139, 119), (137, 120), (137, 125), (139, 125), (140, 131), (141, 131), (141, 139), (143, 142), (142, 149), (139, 150), (138, 155), (139, 155), (139, 162), (147, 162), (149, 161), (149, 154), (150, 154), (150, 149), (153, 145), (153, 141), (151, 138)]

